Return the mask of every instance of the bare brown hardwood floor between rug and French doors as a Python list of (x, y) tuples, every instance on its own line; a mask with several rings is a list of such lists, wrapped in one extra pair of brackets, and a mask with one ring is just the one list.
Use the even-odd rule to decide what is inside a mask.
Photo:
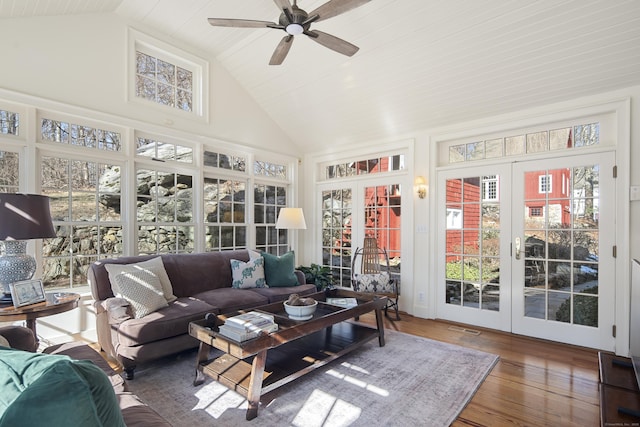
[[(401, 317), (400, 321), (385, 318), (385, 328), (500, 356), (453, 426), (600, 425), (596, 350), (407, 314)], [(375, 317), (360, 320), (373, 323)]]

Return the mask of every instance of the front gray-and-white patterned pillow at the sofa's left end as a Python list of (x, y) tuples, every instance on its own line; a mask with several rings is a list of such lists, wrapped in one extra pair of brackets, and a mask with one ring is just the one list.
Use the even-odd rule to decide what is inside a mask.
[(168, 305), (158, 276), (150, 271), (125, 271), (115, 276), (115, 283), (116, 296), (131, 304), (136, 319)]

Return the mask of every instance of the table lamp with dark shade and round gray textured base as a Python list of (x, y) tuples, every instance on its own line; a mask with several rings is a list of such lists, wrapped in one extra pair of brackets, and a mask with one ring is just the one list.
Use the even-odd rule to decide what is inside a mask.
[(49, 197), (39, 194), (0, 193), (0, 304), (10, 304), (11, 283), (29, 280), (36, 272), (36, 260), (28, 255), (31, 239), (55, 237), (51, 222)]

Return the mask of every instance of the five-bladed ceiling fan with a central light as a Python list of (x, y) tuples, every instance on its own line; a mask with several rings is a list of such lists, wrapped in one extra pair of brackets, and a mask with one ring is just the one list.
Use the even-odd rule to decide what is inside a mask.
[(280, 43), (271, 56), (269, 65), (282, 64), (282, 61), (284, 61), (289, 53), (289, 49), (291, 49), (293, 36), (299, 34), (309, 36), (309, 38), (316, 43), (343, 55), (353, 56), (358, 51), (359, 48), (357, 46), (345, 40), (339, 39), (331, 34), (323, 33), (322, 31), (311, 30), (309, 27), (311, 27), (311, 24), (314, 22), (333, 18), (351, 9), (355, 9), (358, 6), (362, 6), (371, 0), (329, 0), (309, 13), (300, 9), (296, 0), (293, 0), (293, 4), (291, 4), (289, 0), (273, 1), (278, 8), (282, 10), (277, 24), (269, 21), (226, 18), (209, 18), (209, 24), (216, 27), (275, 28), (277, 30), (284, 30), (287, 35), (280, 40)]

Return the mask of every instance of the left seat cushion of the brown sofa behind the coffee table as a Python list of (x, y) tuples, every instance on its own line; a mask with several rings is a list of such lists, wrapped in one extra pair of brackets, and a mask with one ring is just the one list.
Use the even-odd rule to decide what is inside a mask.
[(189, 322), (200, 320), (205, 314), (214, 312), (214, 307), (199, 299), (178, 298), (167, 307), (154, 311), (143, 318), (122, 322), (118, 328), (118, 344), (137, 346), (184, 335), (189, 332)]

